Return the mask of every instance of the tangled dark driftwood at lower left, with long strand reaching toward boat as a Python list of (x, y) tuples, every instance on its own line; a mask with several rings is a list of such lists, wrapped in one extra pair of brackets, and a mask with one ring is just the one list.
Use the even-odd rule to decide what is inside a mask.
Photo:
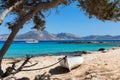
[[(14, 79), (14, 80), (25, 80), (25, 79), (23, 79), (23, 78), (21, 78), (21, 79), (16, 79), (16, 77), (14, 76), (14, 74), (16, 74), (16, 73), (18, 73), (18, 72), (20, 72), (20, 71), (33, 71), (33, 70), (45, 69), (45, 68), (48, 68), (48, 67), (51, 67), (51, 66), (53, 66), (53, 65), (58, 64), (58, 63), (59, 63), (61, 60), (63, 60), (64, 58), (62, 58), (61, 60), (59, 60), (58, 62), (56, 62), (56, 63), (54, 63), (54, 64), (51, 64), (51, 65), (46, 66), (46, 67), (43, 67), (43, 68), (24, 69), (24, 68), (32, 67), (32, 66), (35, 66), (35, 65), (38, 64), (38, 63), (36, 62), (36, 63), (34, 63), (34, 64), (32, 64), (32, 65), (25, 66), (25, 65), (29, 62), (30, 59), (31, 59), (31, 57), (26, 57), (25, 61), (24, 61), (24, 62), (20, 65), (20, 67), (17, 68), (17, 69), (15, 69), (15, 64), (18, 63), (19, 61), (18, 61), (18, 62), (12, 62), (12, 63), (11, 63), (12, 66), (10, 66), (10, 67), (8, 67), (8, 68), (6, 69), (6, 72), (2, 75), (2, 79), (0, 79), (0, 80), (13, 80), (13, 79)], [(26, 79), (29, 80), (29, 78), (26, 78)], [(43, 73), (42, 75), (36, 75), (34, 80), (50, 80), (50, 75), (49, 75), (49, 74), (46, 74), (46, 72), (45, 72), (45, 73)]]

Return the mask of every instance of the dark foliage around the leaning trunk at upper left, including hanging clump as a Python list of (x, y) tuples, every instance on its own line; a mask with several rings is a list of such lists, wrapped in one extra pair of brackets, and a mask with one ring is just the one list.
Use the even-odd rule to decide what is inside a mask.
[[(15, 6), (15, 4), (20, 1), (22, 1), (22, 3)], [(9, 26), (9, 29), (13, 29), (12, 25), (16, 24), (18, 20), (24, 17), (33, 8), (33, 6), (36, 6), (37, 4), (40, 4), (40, 3), (41, 4), (51, 3), (51, 5), (54, 6), (55, 4), (52, 4), (52, 2), (57, 3), (58, 1), (57, 0), (1, 0), (0, 4), (2, 5), (0, 5), (0, 7), (1, 7), (1, 11), (2, 10), (4, 11), (5, 9), (10, 8), (11, 6), (14, 6), (14, 9), (11, 11), (11, 13), (14, 13), (15, 15), (17, 15), (16, 21), (7, 23), (7, 25)], [(67, 5), (72, 3), (74, 0), (60, 0), (60, 1), (61, 1), (61, 4)], [(43, 30), (45, 28), (44, 27), (45, 15), (43, 14), (43, 12), (45, 11), (46, 10), (41, 9), (39, 12), (33, 15), (31, 20), (34, 22), (35, 26), (33, 26), (32, 29)]]

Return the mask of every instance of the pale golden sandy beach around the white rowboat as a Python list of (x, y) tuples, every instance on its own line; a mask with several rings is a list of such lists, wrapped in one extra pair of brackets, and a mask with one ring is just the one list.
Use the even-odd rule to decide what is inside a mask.
[[(49, 66), (63, 56), (40, 56), (29, 60), (26, 67), (14, 74), (16, 79), (24, 80), (23, 77), (34, 80), (35, 75), (45, 74), (50, 80), (120, 80), (120, 47), (83, 54), (83, 64), (68, 72), (59, 64)], [(25, 59), (4, 59), (2, 68), (4, 71), (12, 62), (17, 61), (15, 69), (18, 69)], [(30, 67), (30, 65), (32, 65)], [(38, 70), (33, 70), (38, 69)], [(30, 70), (30, 71), (27, 71)]]

